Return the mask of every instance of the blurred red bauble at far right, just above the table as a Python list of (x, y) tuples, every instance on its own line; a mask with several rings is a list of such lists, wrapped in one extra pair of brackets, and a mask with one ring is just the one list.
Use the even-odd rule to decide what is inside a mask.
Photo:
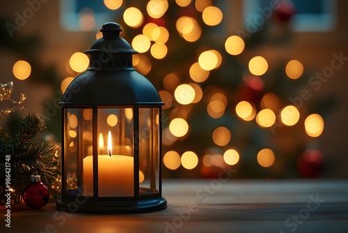
[(324, 156), (322, 151), (307, 149), (299, 156), (297, 165), (304, 178), (317, 178), (322, 174)]

